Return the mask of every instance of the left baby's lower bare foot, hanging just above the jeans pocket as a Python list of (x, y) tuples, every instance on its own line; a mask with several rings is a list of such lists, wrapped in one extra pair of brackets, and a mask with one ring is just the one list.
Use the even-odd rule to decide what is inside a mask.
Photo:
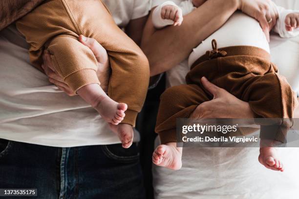
[(129, 124), (109, 124), (110, 129), (116, 133), (124, 148), (129, 148), (133, 143), (133, 127)]

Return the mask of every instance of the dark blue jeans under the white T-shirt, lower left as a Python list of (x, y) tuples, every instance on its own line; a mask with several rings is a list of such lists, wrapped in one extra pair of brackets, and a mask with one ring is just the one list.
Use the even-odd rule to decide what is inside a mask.
[(145, 198), (136, 143), (60, 148), (0, 139), (0, 188), (38, 189), (31, 199)]

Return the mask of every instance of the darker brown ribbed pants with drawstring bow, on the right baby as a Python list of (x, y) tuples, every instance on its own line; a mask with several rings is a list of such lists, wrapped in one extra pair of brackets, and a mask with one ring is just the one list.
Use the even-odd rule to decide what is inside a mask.
[[(211, 59), (215, 53), (219, 57)], [(177, 141), (176, 119), (189, 118), (197, 105), (213, 99), (201, 84), (203, 76), (249, 102), (256, 118), (291, 120), (296, 99), (290, 85), (277, 72), (270, 55), (260, 48), (232, 46), (208, 51), (192, 65), (186, 76), (187, 85), (171, 87), (162, 94), (155, 131), (162, 143)], [(272, 138), (284, 142), (290, 122), (281, 122), (276, 127)], [(250, 132), (240, 129), (240, 133), (244, 134), (244, 130)], [(261, 130), (261, 138), (263, 133), (269, 131)]]

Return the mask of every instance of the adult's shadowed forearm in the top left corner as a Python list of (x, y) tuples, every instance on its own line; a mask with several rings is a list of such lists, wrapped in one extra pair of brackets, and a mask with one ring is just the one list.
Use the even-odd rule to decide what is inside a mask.
[(1, 0), (0, 30), (26, 15), (42, 1), (43, 0)]

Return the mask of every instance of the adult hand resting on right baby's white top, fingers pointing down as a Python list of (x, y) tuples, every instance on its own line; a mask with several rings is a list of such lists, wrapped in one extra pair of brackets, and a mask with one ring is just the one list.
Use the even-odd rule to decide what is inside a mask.
[(269, 32), (276, 24), (278, 12), (272, 0), (238, 0), (238, 9), (259, 21), (266, 38), (270, 41)]

